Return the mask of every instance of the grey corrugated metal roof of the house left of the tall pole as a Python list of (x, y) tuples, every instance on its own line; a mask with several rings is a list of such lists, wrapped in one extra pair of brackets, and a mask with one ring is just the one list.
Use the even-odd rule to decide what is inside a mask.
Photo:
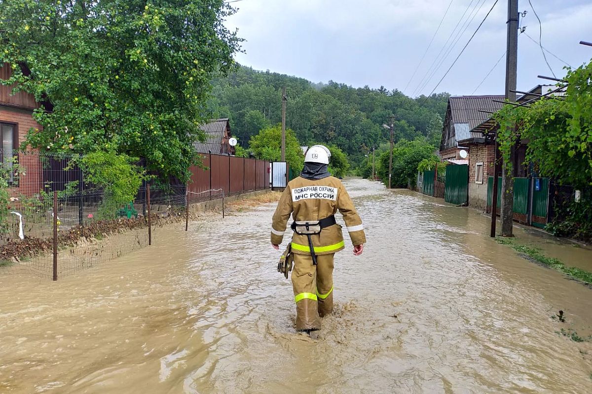
[[(488, 112), (500, 110), (503, 103), (497, 103), (494, 100), (503, 99), (503, 95), (451, 96), (449, 103), (452, 123), (468, 123), (469, 130), (472, 130), (491, 117), (491, 113)], [(471, 137), (480, 136), (480, 133), (471, 133)], [(457, 138), (456, 141), (462, 141), (462, 138)]]

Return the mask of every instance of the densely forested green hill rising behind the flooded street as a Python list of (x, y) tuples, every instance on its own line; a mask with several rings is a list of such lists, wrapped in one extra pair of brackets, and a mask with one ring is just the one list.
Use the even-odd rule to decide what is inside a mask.
[(448, 93), (417, 99), (399, 90), (354, 88), (329, 82), (315, 84), (298, 77), (240, 67), (213, 82), (210, 108), (214, 116), (230, 118), (234, 135), (243, 146), (260, 129), (281, 122), (281, 90), (288, 95), (286, 123), (301, 145), (334, 144), (353, 165), (373, 146), (387, 142), (382, 127), (395, 115), (395, 142), (419, 135), (439, 142)]

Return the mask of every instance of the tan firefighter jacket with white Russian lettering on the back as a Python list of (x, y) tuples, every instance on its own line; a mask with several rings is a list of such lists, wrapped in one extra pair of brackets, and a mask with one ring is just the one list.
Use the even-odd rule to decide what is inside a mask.
[[(366, 243), (362, 219), (340, 180), (335, 177), (320, 180), (295, 178), (288, 183), (279, 199), (271, 226), (271, 243), (282, 243), (290, 214), (293, 220), (321, 220), (335, 214), (337, 210), (343, 215), (353, 245)], [(307, 236), (293, 234), (292, 252), (300, 255), (310, 254)], [(339, 224), (326, 227), (320, 234), (312, 235), (311, 238), (315, 255), (329, 255), (345, 247), (342, 226)]]

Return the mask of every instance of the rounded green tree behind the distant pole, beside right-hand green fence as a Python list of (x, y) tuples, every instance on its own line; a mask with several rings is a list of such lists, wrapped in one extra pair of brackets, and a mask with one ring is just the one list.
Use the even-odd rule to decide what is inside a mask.
[[(427, 139), (420, 137), (413, 141), (402, 140), (392, 149), (392, 178), (393, 187), (407, 187), (417, 175), (417, 167), (423, 159), (432, 158), (434, 147)], [(382, 152), (381, 165), (378, 168), (378, 176), (386, 184), (388, 183), (389, 152)]]

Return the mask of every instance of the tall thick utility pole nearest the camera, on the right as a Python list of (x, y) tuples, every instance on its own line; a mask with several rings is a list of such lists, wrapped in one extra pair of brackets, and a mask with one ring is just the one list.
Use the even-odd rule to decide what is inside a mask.
[[(513, 91), (516, 90), (517, 79), (518, 18), (518, 0), (508, 0), (506, 99), (512, 103), (516, 102), (516, 93)], [(516, 125), (513, 127), (515, 128)], [(503, 237), (512, 236), (514, 224), (514, 158), (516, 157), (516, 146), (512, 146), (510, 152), (510, 160), (504, 162), (501, 175), (501, 236)]]

